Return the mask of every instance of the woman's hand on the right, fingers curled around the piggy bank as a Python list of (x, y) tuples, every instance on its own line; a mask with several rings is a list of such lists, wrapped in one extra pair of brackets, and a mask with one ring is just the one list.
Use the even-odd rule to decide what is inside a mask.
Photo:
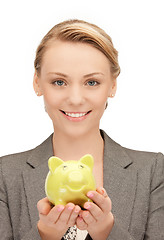
[(112, 230), (114, 217), (111, 213), (111, 200), (104, 188), (90, 191), (87, 196), (93, 202), (86, 202), (76, 225), (81, 230), (87, 230), (93, 240), (106, 239)]

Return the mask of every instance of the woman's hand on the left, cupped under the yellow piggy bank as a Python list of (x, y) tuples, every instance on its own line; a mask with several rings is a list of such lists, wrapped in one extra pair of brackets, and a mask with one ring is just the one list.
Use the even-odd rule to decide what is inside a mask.
[(42, 239), (61, 239), (67, 229), (76, 223), (81, 210), (78, 205), (68, 203), (66, 206), (53, 206), (48, 198), (37, 203), (39, 212), (38, 230)]

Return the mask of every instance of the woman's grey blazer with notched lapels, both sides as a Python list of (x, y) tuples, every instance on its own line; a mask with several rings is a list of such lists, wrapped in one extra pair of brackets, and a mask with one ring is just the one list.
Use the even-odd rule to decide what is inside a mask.
[[(104, 188), (115, 216), (108, 240), (164, 240), (164, 156), (124, 148), (101, 134)], [(51, 135), (35, 149), (0, 158), (1, 240), (40, 239), (36, 204), (45, 197), (52, 155)]]

